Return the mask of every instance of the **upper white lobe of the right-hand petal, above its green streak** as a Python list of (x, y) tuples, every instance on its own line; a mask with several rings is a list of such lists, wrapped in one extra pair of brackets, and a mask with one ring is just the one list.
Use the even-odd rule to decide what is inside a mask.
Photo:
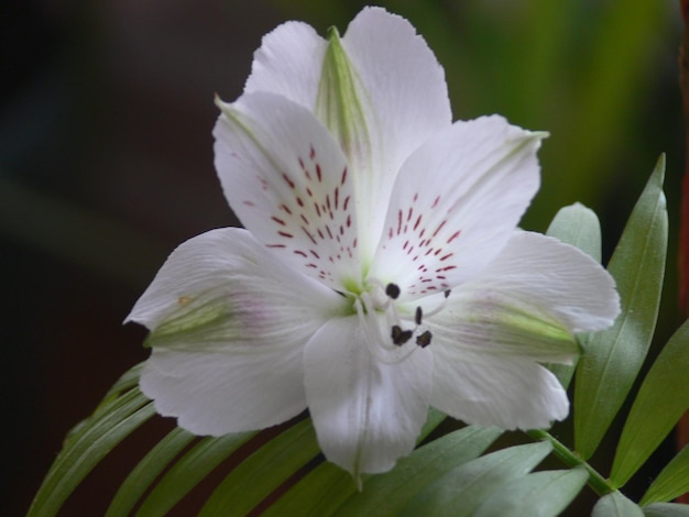
[(474, 301), (504, 296), (506, 304), (537, 307), (572, 332), (605, 329), (620, 314), (615, 282), (598, 262), (532, 232), (516, 231), (502, 253), (460, 292)]

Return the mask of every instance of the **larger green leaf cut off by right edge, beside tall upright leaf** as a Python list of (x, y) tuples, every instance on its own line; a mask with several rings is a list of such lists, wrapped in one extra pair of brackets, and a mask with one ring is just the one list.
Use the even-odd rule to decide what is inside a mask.
[(672, 430), (689, 407), (689, 321), (670, 338), (634, 400), (610, 476), (624, 485)]

